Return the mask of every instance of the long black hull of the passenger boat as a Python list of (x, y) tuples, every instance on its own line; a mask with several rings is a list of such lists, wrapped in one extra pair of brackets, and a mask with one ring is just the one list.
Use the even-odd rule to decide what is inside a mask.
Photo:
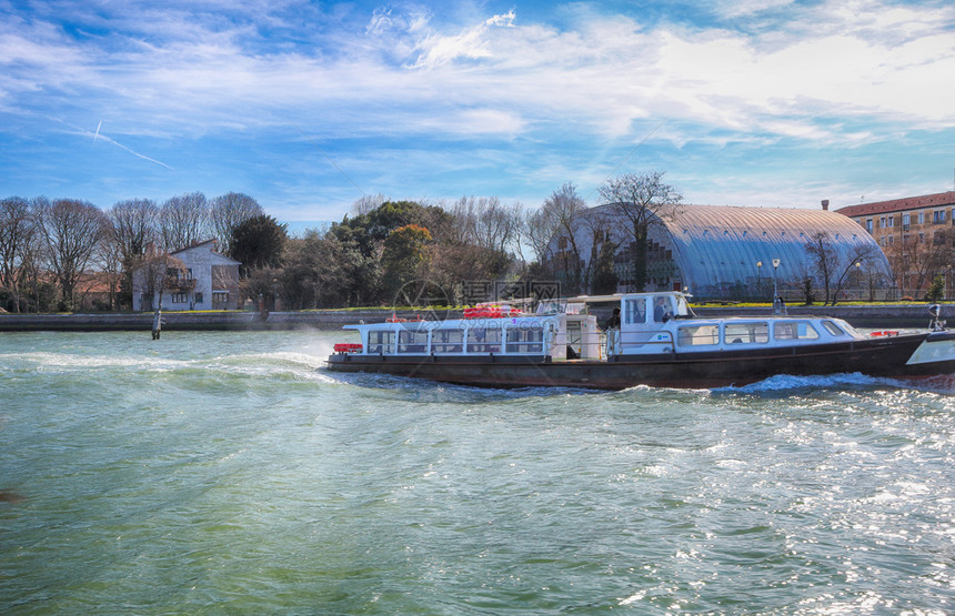
[(775, 376), (862, 373), (919, 378), (955, 373), (955, 361), (908, 365), (926, 337), (914, 334), (790, 349), (621, 356), (609, 362), (551, 362), (544, 356), (422, 356), (335, 354), (333, 372), (383, 373), (483, 387), (564, 386), (623, 390), (634, 385), (707, 388), (745, 385)]

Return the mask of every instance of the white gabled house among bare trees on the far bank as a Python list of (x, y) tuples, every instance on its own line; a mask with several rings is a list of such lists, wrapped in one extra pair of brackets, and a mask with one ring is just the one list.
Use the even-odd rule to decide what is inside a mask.
[[(208, 240), (170, 253), (182, 262), (177, 284), (162, 294), (163, 310), (237, 310), (240, 307), (239, 263), (215, 252), (215, 240)], [(150, 293), (148, 267), (132, 275), (132, 309), (155, 310), (159, 297)]]

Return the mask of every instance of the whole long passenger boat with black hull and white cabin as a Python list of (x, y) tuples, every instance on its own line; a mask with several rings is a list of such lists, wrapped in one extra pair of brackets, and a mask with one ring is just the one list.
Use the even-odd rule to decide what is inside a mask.
[[(697, 316), (676, 291), (506, 304), (461, 317), (345, 325), (360, 342), (335, 345), (332, 372), (382, 373), (485, 387), (635, 385), (710, 388), (787, 375), (861, 373), (924, 378), (955, 373), (955, 332), (934, 306), (927, 331), (864, 334), (844, 320)], [(601, 329), (590, 306), (610, 304)]]

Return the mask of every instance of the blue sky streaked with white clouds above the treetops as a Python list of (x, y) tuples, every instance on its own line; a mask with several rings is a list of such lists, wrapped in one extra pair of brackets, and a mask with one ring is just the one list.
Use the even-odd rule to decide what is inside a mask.
[(955, 189), (951, 0), (0, 0), (0, 196), (832, 209)]

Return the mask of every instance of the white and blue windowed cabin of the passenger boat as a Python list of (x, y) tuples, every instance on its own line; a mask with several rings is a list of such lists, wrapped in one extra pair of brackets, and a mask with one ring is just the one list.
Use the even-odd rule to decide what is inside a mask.
[[(602, 330), (594, 303), (620, 307), (620, 327)], [(469, 309), (464, 319), (346, 325), (361, 344), (339, 352), (395, 356), (549, 356), (554, 362), (606, 361), (621, 355), (743, 351), (862, 339), (828, 317), (695, 316), (680, 292), (583, 296), (541, 303), (535, 313), (510, 306)]]

